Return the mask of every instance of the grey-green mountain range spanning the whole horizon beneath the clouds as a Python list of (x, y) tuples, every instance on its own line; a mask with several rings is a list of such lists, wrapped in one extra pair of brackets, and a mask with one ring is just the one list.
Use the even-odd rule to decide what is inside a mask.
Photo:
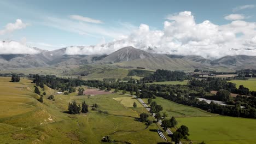
[(168, 69), (191, 71), (199, 69), (237, 70), (255, 69), (255, 56), (225, 56), (218, 59), (206, 59), (201, 56), (180, 56), (149, 53), (134, 47), (123, 47), (109, 55), (67, 55), (66, 48), (54, 51), (41, 50), (34, 55), (0, 55), (0, 69), (19, 69), (49, 67), (54, 65), (108, 64), (119, 68), (143, 67), (146, 69)]

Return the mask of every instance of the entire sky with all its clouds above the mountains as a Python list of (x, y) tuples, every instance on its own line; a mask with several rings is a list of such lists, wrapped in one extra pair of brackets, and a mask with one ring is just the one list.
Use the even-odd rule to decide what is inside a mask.
[(205, 58), (256, 55), (255, 14), (256, 1), (248, 0), (2, 0), (0, 40), (18, 43), (1, 42), (0, 53), (68, 46), (68, 55), (90, 55), (133, 46)]

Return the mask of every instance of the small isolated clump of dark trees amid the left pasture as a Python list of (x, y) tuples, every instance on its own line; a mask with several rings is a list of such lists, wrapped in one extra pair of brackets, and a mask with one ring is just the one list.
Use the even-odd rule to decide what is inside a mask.
[[(81, 111), (82, 108), (82, 111)], [(70, 114), (78, 114), (78, 113), (87, 113), (88, 112), (88, 105), (85, 103), (85, 101), (83, 101), (82, 103), (82, 107), (79, 105), (77, 105), (77, 103), (75, 101), (73, 101), (72, 103), (68, 103), (68, 113)]]

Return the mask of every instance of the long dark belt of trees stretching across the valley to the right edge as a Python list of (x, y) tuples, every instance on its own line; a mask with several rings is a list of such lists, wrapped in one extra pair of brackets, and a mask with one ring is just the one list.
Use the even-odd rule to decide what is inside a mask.
[[(229, 100), (227, 103), (230, 105), (223, 106), (218, 104), (207, 104), (205, 101), (199, 101), (197, 98), (204, 98), (207, 95), (212, 95), (210, 91), (220, 91), (225, 89), (229, 92), (234, 91), (244, 91), (245, 88), (238, 88), (236, 90), (235, 84), (227, 82), (225, 79), (219, 78), (208, 78), (207, 80), (191, 80), (190, 85), (146, 85), (144, 83), (126, 83), (126, 82), (104, 82), (99, 80), (79, 80), (79, 79), (61, 79), (54, 76), (44, 76), (40, 79), (44, 79), (44, 84), (51, 88), (57, 86), (56, 89), (65, 89), (66, 87), (75, 86), (89, 86), (89, 87), (110, 87), (115, 88), (115, 92), (119, 90), (127, 92), (136, 92), (137, 98), (155, 98), (156, 96), (165, 99), (172, 100), (179, 104), (199, 107), (202, 110), (206, 110), (212, 113), (218, 113), (220, 115), (227, 116), (239, 116), (239, 117), (250, 117), (256, 118), (256, 92), (250, 92), (251, 95), (255, 97), (242, 97), (238, 96), (229, 100), (224, 98), (224, 100)], [(54, 86), (51, 85), (54, 84)], [(61, 87), (64, 86), (64, 87)], [(139, 89), (141, 91), (139, 91)], [(244, 106), (241, 109), (240, 106)], [(153, 108), (154, 110), (154, 108)], [(156, 110), (155, 112), (157, 112)]]

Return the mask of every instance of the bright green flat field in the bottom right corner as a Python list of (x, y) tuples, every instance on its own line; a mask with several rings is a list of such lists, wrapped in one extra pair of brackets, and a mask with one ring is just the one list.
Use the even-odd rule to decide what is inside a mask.
[(226, 116), (177, 118), (189, 128), (189, 139), (211, 143), (256, 143), (256, 119)]

